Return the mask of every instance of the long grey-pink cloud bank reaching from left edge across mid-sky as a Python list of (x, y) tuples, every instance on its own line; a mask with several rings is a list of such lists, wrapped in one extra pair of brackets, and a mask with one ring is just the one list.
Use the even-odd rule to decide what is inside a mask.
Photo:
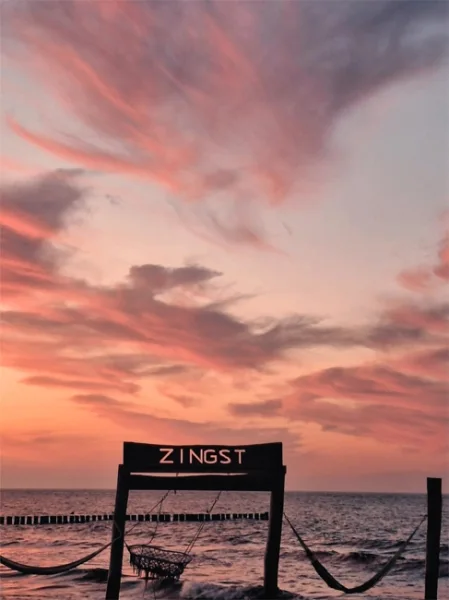
[(135, 394), (144, 378), (261, 370), (291, 350), (361, 343), (304, 315), (239, 319), (231, 301), (207, 299), (220, 273), (197, 264), (134, 265), (109, 286), (63, 276), (64, 228), (86, 200), (78, 178), (56, 172), (4, 190), (3, 364), (25, 371), (24, 383)]

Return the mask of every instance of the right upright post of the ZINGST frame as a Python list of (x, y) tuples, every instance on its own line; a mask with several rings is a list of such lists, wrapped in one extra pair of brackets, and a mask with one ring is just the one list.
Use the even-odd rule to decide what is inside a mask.
[(278, 571), (281, 551), (282, 519), (284, 515), (285, 472), (279, 474), (276, 486), (271, 491), (270, 523), (265, 551), (264, 594), (265, 598), (276, 598), (279, 592)]

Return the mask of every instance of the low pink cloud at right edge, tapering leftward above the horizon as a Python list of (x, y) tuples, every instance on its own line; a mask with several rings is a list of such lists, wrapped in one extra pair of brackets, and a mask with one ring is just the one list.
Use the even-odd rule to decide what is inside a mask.
[[(404, 359), (406, 360), (406, 359)], [(430, 378), (377, 363), (331, 368), (299, 377), (284, 408), (291, 419), (323, 431), (398, 445), (449, 450), (447, 378)]]

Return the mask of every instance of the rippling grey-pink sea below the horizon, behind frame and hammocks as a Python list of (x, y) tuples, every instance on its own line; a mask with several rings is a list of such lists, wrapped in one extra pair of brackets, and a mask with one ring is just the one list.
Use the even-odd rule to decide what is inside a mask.
[[(163, 512), (206, 512), (215, 495), (177, 492)], [(104, 514), (113, 511), (113, 490), (5, 490), (2, 515)], [(128, 513), (147, 513), (160, 493), (131, 492)], [(443, 501), (439, 600), (449, 600), (449, 510)], [(265, 493), (224, 492), (213, 512), (265, 512)], [(363, 583), (394, 554), (426, 514), (425, 495), (286, 492), (285, 512), (324, 566), (347, 587)], [(145, 544), (155, 523), (127, 523), (128, 544)], [(153, 544), (184, 550), (198, 531), (195, 522), (159, 523)], [(111, 539), (112, 522), (0, 527), (1, 554), (24, 564), (51, 566), (81, 558)], [(133, 529), (131, 530), (131, 527)], [(193, 560), (174, 584), (147, 584), (133, 573), (125, 548), (121, 599), (177, 598), (239, 600), (260, 597), (268, 522), (207, 522), (193, 549)], [(426, 523), (395, 568), (373, 589), (354, 600), (424, 598)], [(109, 549), (91, 562), (53, 576), (19, 575), (0, 567), (0, 597), (8, 600), (103, 600)], [(307, 559), (284, 521), (279, 587), (285, 597), (330, 599), (345, 594), (330, 589)]]

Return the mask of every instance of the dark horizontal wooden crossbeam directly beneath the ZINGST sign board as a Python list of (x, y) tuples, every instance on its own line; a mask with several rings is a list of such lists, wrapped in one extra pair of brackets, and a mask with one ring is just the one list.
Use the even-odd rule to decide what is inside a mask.
[(271, 473), (259, 471), (240, 475), (188, 475), (184, 477), (157, 477), (154, 475), (130, 475), (131, 490), (198, 490), (198, 491), (245, 491), (269, 492), (274, 487)]

